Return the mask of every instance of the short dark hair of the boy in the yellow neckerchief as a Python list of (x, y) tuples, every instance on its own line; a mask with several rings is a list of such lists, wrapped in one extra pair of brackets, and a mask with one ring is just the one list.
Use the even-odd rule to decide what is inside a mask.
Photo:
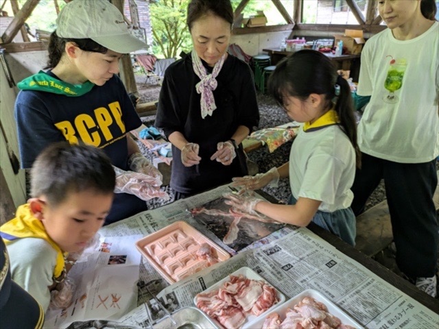
[(57, 206), (72, 192), (112, 193), (115, 183), (110, 158), (91, 145), (49, 145), (36, 157), (31, 169), (31, 196), (45, 195), (51, 206)]

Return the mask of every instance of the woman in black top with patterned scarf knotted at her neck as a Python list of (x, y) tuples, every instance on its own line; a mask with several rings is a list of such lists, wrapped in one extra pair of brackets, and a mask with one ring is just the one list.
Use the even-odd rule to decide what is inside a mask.
[(155, 125), (172, 143), (176, 199), (246, 174), (237, 154), (259, 110), (250, 67), (227, 53), (232, 24), (229, 0), (192, 0), (193, 50), (165, 73)]

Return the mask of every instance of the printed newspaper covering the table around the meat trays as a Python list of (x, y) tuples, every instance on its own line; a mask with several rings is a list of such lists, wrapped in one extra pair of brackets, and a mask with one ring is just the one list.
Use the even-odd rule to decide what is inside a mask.
[[(102, 228), (100, 233), (104, 236), (147, 235), (174, 221), (183, 220), (230, 254), (235, 254), (223, 263), (171, 285), (143, 260), (139, 281), (130, 282), (132, 287), (139, 287), (137, 308), (132, 308), (117, 321), (132, 328), (151, 328), (151, 325), (167, 316), (157, 302), (170, 313), (193, 306), (197, 293), (240, 267), (247, 266), (281, 291), (287, 300), (305, 289), (320, 291), (365, 328), (439, 328), (439, 315), (345, 256), (307, 228), (286, 226), (239, 253), (230, 249), (187, 211), (217, 199), (228, 191), (228, 186), (221, 186)], [(145, 286), (153, 289), (145, 292)], [(151, 290), (156, 298), (151, 295)]]

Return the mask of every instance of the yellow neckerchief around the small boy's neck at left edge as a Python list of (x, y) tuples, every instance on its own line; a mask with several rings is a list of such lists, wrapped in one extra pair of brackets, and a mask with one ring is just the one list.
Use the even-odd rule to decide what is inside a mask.
[[(47, 235), (43, 223), (32, 214), (29, 204), (23, 204), (16, 210), (16, 217), (0, 227), (0, 235), (5, 245), (17, 239), (38, 238), (47, 241), (57, 252), (54, 279), (64, 275), (64, 254), (58, 245)], [(67, 253), (66, 253), (67, 255)]]

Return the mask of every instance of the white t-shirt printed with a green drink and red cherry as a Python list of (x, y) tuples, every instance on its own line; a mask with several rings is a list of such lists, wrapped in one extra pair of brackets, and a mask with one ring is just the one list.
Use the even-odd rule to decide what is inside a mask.
[[(412, 40), (396, 40), (385, 29), (366, 42), (357, 94), (372, 97), (358, 126), (362, 152), (401, 163), (429, 162), (439, 155), (438, 52), (438, 22)], [(396, 103), (387, 103), (388, 71), (403, 69), (404, 63)]]

